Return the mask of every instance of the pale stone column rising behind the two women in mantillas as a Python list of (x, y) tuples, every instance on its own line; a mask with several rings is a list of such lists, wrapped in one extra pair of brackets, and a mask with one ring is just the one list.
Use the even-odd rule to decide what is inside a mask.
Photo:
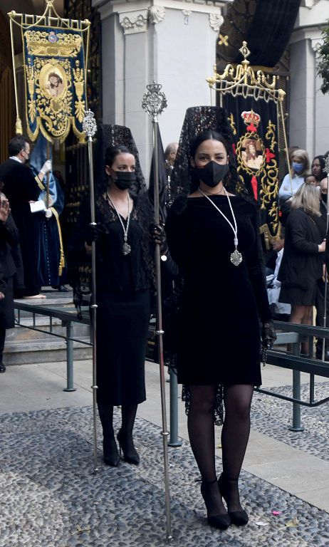
[(130, 127), (145, 177), (152, 155), (151, 123), (141, 107), (146, 85), (156, 80), (167, 96), (160, 116), (165, 147), (179, 139), (189, 106), (211, 104), (206, 78), (229, 1), (93, 1), (102, 19), (103, 122)]

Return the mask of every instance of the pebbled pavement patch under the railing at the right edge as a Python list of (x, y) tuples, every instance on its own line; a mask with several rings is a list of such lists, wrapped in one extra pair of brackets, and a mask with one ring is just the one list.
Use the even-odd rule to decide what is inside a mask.
[[(308, 400), (308, 385), (302, 385), (301, 398)], [(288, 397), (292, 396), (292, 387), (281, 386), (271, 388)], [(329, 382), (322, 382), (315, 387), (315, 400), (329, 396)], [(276, 397), (254, 394), (253, 410), (251, 412), (251, 427), (285, 442), (289, 446), (308, 452), (318, 458), (329, 461), (329, 402), (320, 407), (301, 407), (301, 424), (303, 432), (291, 432), (288, 427), (293, 421), (293, 405)]]

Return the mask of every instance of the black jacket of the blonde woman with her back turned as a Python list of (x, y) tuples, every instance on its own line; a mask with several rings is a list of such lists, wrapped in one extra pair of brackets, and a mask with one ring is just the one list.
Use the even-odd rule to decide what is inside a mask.
[(307, 290), (322, 277), (323, 254), (318, 226), (303, 209), (293, 209), (286, 221), (284, 253), (278, 281), (288, 287)]

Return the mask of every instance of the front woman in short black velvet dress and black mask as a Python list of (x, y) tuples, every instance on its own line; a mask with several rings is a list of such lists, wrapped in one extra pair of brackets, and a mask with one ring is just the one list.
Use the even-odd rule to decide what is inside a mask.
[[(225, 529), (248, 522), (238, 480), (254, 385), (261, 384), (258, 317), (268, 346), (275, 333), (258, 256), (256, 207), (226, 190), (232, 153), (227, 140), (214, 131), (202, 132), (184, 153), (194, 191), (177, 197), (166, 224), (169, 251), (184, 278), (178, 381), (189, 391), (189, 439), (202, 475), (208, 521)], [(225, 419), (223, 472), (217, 481), (214, 408), (219, 385)]]

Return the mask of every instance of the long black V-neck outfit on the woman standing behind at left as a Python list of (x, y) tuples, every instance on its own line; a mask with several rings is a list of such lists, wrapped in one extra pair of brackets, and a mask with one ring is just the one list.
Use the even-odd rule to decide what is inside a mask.
[[(103, 234), (96, 243), (98, 402), (137, 405), (145, 400), (145, 346), (150, 322), (148, 224), (142, 199), (134, 201), (127, 242), (104, 197), (96, 207)], [(126, 224), (125, 219), (122, 222)]]

